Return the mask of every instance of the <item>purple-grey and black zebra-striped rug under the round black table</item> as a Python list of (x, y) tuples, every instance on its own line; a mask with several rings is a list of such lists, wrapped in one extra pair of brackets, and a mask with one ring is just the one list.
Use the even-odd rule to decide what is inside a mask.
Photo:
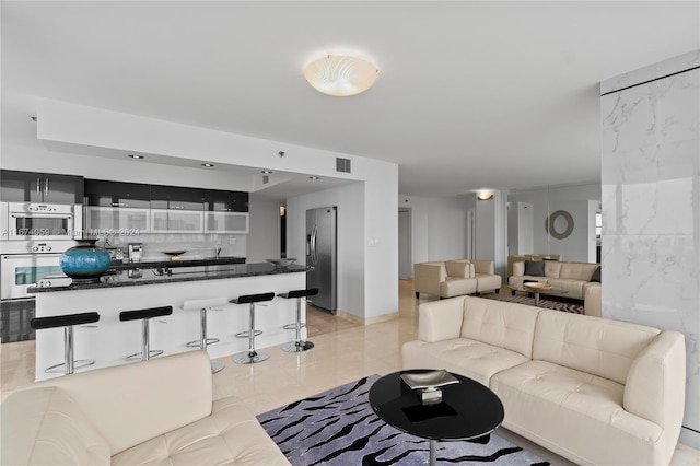
[[(371, 375), (257, 417), (289, 462), (312, 465), (425, 465), (429, 442), (404, 433), (372, 410)], [(483, 443), (486, 442), (486, 443)], [(549, 465), (495, 434), (482, 442), (438, 442), (439, 463)]]

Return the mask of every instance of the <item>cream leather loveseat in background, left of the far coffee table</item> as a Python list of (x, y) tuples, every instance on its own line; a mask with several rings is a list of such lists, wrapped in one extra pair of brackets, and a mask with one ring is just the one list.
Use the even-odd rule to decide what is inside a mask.
[(501, 276), (492, 260), (453, 259), (413, 264), (413, 289), (440, 298), (498, 291)]

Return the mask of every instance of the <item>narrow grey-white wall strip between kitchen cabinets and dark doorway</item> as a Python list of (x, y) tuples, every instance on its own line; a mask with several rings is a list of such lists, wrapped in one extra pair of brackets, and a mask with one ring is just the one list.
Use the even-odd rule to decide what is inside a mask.
[(265, 259), (280, 257), (280, 203), (250, 197), (248, 206), (250, 220), (247, 235), (247, 263), (264, 263)]

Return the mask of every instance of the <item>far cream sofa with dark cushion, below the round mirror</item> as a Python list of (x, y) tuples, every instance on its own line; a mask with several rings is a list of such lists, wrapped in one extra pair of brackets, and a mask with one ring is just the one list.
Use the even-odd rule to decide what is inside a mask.
[[(599, 264), (524, 260), (513, 263), (513, 275), (508, 278), (508, 282), (509, 284), (520, 284), (525, 280), (536, 280), (567, 290), (567, 298), (583, 300), (587, 287), (600, 283), (599, 270)], [(596, 271), (598, 273), (597, 282), (592, 281)]]

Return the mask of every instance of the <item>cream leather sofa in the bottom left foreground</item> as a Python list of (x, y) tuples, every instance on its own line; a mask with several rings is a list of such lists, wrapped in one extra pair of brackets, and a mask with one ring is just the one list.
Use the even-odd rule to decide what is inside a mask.
[(2, 403), (3, 465), (289, 465), (187, 351), (37, 382)]

